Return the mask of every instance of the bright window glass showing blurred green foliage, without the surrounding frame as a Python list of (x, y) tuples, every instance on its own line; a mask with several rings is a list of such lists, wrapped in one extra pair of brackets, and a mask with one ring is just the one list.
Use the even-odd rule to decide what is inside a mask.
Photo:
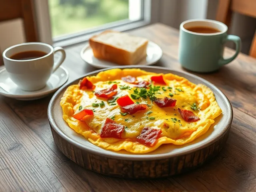
[(140, 20), (140, 10), (140, 0), (49, 0), (52, 37), (116, 21)]

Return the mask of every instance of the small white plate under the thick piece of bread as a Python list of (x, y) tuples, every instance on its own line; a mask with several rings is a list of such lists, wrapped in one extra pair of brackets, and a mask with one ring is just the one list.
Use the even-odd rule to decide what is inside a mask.
[[(162, 54), (163, 54), (162, 49), (154, 42), (149, 41), (148, 47), (147, 47), (147, 56), (144, 60), (139, 62), (138, 65), (153, 65), (156, 62), (158, 62), (158, 60), (160, 60), (160, 58), (162, 57)], [(85, 62), (99, 69), (119, 66), (116, 63), (99, 60), (95, 58), (93, 56), (93, 52), (89, 44), (87, 44), (84, 48), (82, 48), (80, 55)]]

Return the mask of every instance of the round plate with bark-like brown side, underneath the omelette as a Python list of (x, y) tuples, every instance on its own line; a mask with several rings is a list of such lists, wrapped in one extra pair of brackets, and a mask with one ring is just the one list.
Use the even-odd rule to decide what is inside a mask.
[[(72, 130), (62, 119), (60, 99), (71, 84), (62, 86), (52, 97), (48, 107), (48, 118), (52, 135), (58, 148), (80, 166), (110, 176), (121, 178), (159, 178), (180, 174), (202, 165), (214, 157), (226, 143), (233, 118), (231, 104), (226, 96), (210, 82), (186, 73), (156, 66), (120, 66), (119, 68), (140, 68), (156, 73), (173, 73), (187, 78), (195, 84), (205, 84), (215, 94), (222, 109), (222, 115), (206, 134), (182, 146), (165, 144), (148, 154), (132, 154), (125, 151), (113, 152), (91, 144), (82, 135)], [(104, 69), (108, 70), (108, 69)], [(84, 76), (96, 75), (98, 70)]]

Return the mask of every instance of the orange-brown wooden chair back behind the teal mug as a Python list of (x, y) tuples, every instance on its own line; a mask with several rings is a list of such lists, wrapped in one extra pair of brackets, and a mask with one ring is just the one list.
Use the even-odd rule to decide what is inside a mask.
[[(256, 18), (256, 0), (219, 0), (216, 20), (230, 26), (232, 13)], [(252, 40), (249, 55), (256, 58), (256, 32)]]

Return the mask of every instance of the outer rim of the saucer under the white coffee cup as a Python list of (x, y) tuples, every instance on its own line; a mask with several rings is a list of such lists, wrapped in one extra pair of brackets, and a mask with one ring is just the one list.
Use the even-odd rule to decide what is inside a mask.
[[(14, 95), (14, 94), (8, 94), (8, 92), (6, 92), (6, 91), (5, 91), (6, 93), (0, 91), (0, 95), (6, 96), (6, 97), (9, 97), (9, 98), (15, 98), (15, 99), (23, 99), (23, 98), (24, 98), (24, 99), (29, 99), (29, 98), (41, 98), (41, 96), (50, 94), (50, 93), (52, 93), (52, 92), (58, 90), (58, 88), (60, 88), (60, 87), (63, 86), (64, 84), (66, 84), (66, 82), (68, 81), (68, 78), (69, 78), (68, 70), (67, 70), (66, 68), (64, 68), (63, 66), (60, 66), (59, 68), (62, 68), (62, 70), (64, 70), (67, 75), (66, 75), (66, 78), (65, 78), (65, 80), (64, 80), (64, 83), (61, 84), (61, 85), (56, 86), (56, 88), (54, 88), (54, 89), (46, 90), (46, 91), (39, 92), (39, 93), (36, 93), (36, 94), (31, 94), (31, 95)], [(58, 69), (59, 69), (59, 68), (58, 68)], [(58, 70), (58, 69), (57, 69), (57, 70)], [(6, 70), (5, 67), (0, 70), (0, 73), (2, 73), (4, 70)], [(6, 70), (6, 71), (7, 71), (7, 70)]]

